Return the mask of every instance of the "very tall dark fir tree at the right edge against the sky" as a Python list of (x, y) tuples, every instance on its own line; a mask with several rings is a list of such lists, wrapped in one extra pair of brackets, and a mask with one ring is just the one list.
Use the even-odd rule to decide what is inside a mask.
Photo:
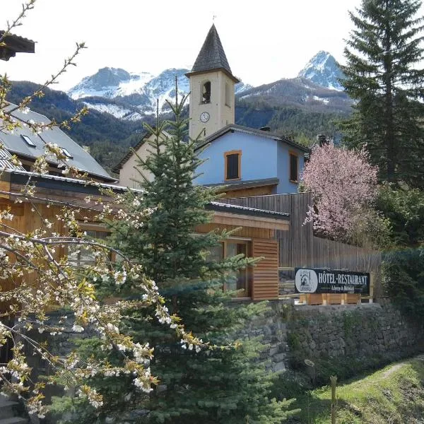
[(341, 124), (346, 144), (367, 146), (380, 179), (424, 187), (423, 17), (419, 0), (363, 0), (344, 51), (346, 78), (355, 100)]

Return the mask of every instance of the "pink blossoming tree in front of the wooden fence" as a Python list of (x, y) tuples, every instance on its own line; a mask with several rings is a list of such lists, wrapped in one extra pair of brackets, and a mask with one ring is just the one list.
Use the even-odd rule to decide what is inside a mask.
[(312, 192), (305, 222), (326, 237), (343, 242), (358, 242), (367, 222), (379, 218), (372, 210), (377, 196), (377, 167), (368, 163), (368, 154), (337, 148), (333, 143), (312, 150), (305, 165), (302, 182)]

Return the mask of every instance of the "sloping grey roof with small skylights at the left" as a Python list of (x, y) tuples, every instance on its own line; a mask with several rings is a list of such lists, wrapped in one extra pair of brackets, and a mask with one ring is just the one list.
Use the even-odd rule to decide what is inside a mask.
[[(51, 122), (44, 115), (33, 112), (32, 110), (30, 110), (27, 114), (24, 114), (16, 107), (16, 105), (13, 104), (6, 107), (6, 110), (13, 110), (13, 112), (11, 112), (11, 116), (22, 123), (28, 123), (31, 120), (36, 124), (49, 124)], [(28, 146), (21, 136), (28, 136), (35, 144), (35, 147)], [(110, 175), (100, 166), (93, 156), (87, 153), (81, 146), (78, 146), (75, 141), (73, 141), (57, 126), (54, 126), (52, 129), (45, 129), (45, 131), (42, 131), (40, 134), (34, 134), (28, 126), (16, 128), (13, 131), (13, 134), (0, 131), (0, 141), (4, 143), (4, 146), (11, 153), (16, 153), (18, 156), (32, 159), (45, 154), (46, 143), (56, 143), (57, 146), (66, 148), (66, 151), (71, 153), (72, 158), (69, 158), (69, 165), (76, 167), (78, 170), (83, 172), (88, 172), (88, 174), (95, 177), (101, 177), (108, 181), (115, 181), (115, 179), (110, 177)], [(47, 160), (54, 165), (57, 165), (58, 163), (57, 159), (54, 157), (47, 158)]]

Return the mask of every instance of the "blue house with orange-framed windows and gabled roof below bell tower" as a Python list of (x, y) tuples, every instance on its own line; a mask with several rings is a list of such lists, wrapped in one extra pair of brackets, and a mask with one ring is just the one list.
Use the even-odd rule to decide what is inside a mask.
[(298, 192), (308, 149), (269, 131), (229, 124), (204, 139), (197, 184), (225, 185), (231, 197)]

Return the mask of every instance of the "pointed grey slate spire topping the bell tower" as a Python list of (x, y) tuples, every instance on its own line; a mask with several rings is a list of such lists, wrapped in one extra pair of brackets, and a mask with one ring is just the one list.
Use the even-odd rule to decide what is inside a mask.
[(214, 71), (216, 69), (223, 69), (228, 75), (239, 82), (235, 76), (232, 75), (230, 65), (228, 64), (227, 57), (223, 49), (223, 45), (220, 42), (218, 31), (214, 24), (206, 36), (204, 45), (201, 47), (199, 55), (194, 62), (193, 69), (190, 73)]

